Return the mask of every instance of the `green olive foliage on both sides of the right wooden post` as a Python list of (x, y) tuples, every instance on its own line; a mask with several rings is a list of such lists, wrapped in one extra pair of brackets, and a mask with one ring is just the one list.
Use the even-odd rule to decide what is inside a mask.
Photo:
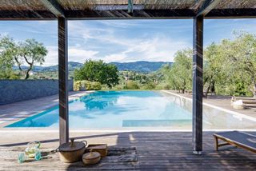
[[(185, 92), (192, 88), (192, 50), (175, 54), (174, 65), (164, 66), (162, 72), (171, 89)], [(234, 39), (212, 43), (204, 50), (203, 82), (205, 95), (256, 96), (256, 36), (235, 32)]]

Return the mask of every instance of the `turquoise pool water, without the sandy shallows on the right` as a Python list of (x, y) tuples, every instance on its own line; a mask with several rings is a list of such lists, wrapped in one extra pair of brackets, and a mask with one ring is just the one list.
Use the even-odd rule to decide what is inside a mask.
[[(98, 91), (70, 101), (70, 128), (169, 126), (190, 123), (189, 110), (154, 91)], [(58, 106), (8, 127), (58, 127)]]

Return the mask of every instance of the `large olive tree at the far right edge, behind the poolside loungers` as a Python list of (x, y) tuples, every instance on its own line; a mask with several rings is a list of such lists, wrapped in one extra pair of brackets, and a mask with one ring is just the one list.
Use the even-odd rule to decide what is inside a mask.
[[(222, 84), (231, 95), (256, 95), (256, 36), (235, 32), (234, 40), (223, 40)], [(224, 78), (224, 79), (223, 79)], [(224, 92), (225, 93), (225, 92)]]

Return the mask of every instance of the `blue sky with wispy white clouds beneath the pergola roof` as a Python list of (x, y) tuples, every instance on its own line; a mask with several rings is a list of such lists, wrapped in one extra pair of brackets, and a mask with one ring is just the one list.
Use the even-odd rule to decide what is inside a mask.
[[(47, 50), (43, 66), (58, 63), (57, 21), (0, 22), (0, 34), (16, 41), (35, 38)], [(193, 20), (70, 21), (69, 61), (172, 62), (177, 50), (192, 48)], [(256, 19), (205, 20), (204, 46), (233, 38), (234, 30), (256, 34)]]

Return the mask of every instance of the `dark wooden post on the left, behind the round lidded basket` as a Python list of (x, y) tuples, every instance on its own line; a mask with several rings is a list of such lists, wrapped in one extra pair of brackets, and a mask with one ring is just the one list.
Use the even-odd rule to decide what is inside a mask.
[(59, 143), (69, 141), (67, 21), (58, 18)]

